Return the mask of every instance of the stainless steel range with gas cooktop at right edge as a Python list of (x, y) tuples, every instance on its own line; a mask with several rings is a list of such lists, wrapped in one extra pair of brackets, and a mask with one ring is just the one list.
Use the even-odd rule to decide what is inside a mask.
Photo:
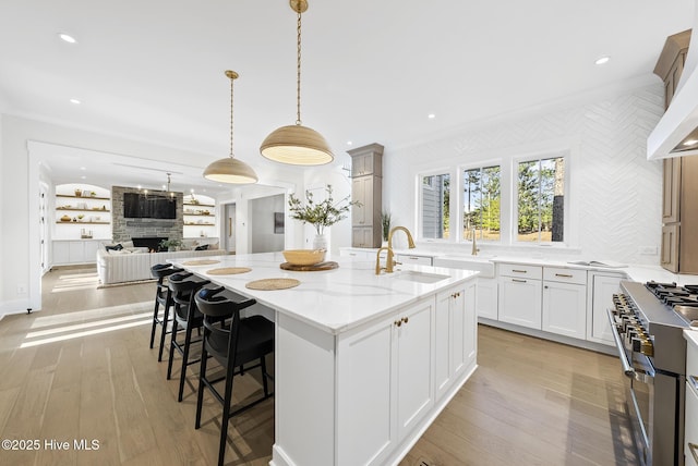
[[(698, 286), (621, 282), (609, 319), (623, 372), (640, 464), (684, 464), (686, 341)], [(698, 318), (698, 317), (696, 317)]]

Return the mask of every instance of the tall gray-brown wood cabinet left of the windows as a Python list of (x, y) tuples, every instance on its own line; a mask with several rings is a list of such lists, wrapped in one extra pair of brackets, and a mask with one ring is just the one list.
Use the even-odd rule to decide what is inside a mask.
[(351, 246), (381, 247), (383, 208), (383, 146), (370, 144), (347, 151), (351, 156)]

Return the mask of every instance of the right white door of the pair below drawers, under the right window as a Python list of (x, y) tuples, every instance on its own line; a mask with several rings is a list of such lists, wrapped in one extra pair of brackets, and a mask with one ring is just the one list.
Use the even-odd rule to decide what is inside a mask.
[(543, 283), (542, 330), (583, 340), (587, 331), (587, 286)]

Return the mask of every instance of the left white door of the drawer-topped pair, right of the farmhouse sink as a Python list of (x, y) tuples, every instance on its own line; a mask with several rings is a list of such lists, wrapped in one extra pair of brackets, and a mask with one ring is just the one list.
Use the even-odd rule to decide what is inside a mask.
[(541, 330), (541, 281), (500, 278), (500, 320)]

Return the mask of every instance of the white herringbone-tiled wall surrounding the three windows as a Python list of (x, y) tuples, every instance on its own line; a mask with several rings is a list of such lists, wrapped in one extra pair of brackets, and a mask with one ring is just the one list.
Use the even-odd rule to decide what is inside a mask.
[[(659, 83), (659, 79), (658, 79)], [(567, 249), (500, 247), (495, 254), (576, 255), (628, 263), (659, 265), (662, 165), (647, 161), (647, 136), (663, 113), (661, 84), (502, 119), (419, 146), (384, 155), (384, 209), (394, 224), (417, 232), (416, 179), (420, 171), (454, 170), (484, 161), (510, 163), (514, 157), (569, 149), (570, 219)], [(504, 192), (503, 196), (506, 195)], [(503, 224), (510, 224), (503, 219)], [(470, 244), (431, 243), (433, 248)], [(488, 245), (480, 244), (486, 249)], [(640, 248), (654, 248), (642, 255)], [(494, 249), (493, 247), (490, 247)]]

